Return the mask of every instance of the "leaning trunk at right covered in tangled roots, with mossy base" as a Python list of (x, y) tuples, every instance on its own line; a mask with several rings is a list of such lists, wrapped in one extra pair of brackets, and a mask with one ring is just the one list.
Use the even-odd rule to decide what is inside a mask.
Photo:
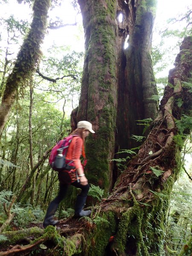
[[(61, 223), (58, 233), (62, 237), (52, 227), (45, 230), (57, 244), (52, 249), (54, 255), (60, 255), (60, 250), (55, 250), (58, 247), (66, 256), (162, 255), (170, 193), (181, 166), (181, 139), (191, 128), (191, 119), (186, 120), (192, 110), (191, 87), (182, 86), (182, 82), (192, 79), (192, 37), (184, 39), (175, 65), (169, 73), (169, 85), (153, 128), (137, 156), (119, 176), (111, 195), (96, 205), (89, 221), (74, 220), (71, 228), (72, 219)], [(181, 107), (177, 105), (178, 99), (183, 99)], [(71, 236), (64, 238), (69, 232)], [(38, 241), (35, 240), (37, 244)], [(0, 255), (11, 255), (13, 250), (14, 247)], [(186, 254), (183, 251), (180, 255)]]

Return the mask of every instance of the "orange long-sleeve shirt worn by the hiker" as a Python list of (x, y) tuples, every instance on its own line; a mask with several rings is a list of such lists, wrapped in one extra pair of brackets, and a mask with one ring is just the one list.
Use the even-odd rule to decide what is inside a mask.
[(73, 137), (67, 151), (66, 159), (73, 160), (76, 169), (82, 167), (80, 156), (82, 154), (83, 140), (79, 136)]

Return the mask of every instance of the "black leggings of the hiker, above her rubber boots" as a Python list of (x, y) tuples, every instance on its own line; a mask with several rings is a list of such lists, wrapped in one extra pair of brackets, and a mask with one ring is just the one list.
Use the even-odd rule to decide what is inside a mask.
[[(89, 184), (81, 185), (80, 182), (75, 181), (75, 182), (71, 183), (70, 185), (81, 189), (81, 193), (79, 194), (81, 197), (87, 197), (87, 194), (89, 192)], [(67, 189), (70, 185), (59, 183), (58, 195), (52, 202), (54, 202), (55, 204), (59, 204), (64, 199), (64, 197), (67, 193)]]

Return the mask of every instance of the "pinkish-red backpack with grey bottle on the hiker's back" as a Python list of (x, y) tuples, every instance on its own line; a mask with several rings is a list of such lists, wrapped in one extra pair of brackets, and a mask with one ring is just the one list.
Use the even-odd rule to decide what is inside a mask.
[[(72, 183), (76, 180), (79, 181), (78, 174), (75, 170), (75, 165), (73, 160), (65, 159), (67, 155), (67, 151), (69, 145), (74, 136), (77, 135), (70, 135), (63, 140), (60, 140), (57, 145), (52, 148), (52, 151), (49, 156), (49, 164), (55, 171), (62, 171), (62, 179), (64, 176), (65, 183)], [(61, 174), (59, 174), (60, 176)]]

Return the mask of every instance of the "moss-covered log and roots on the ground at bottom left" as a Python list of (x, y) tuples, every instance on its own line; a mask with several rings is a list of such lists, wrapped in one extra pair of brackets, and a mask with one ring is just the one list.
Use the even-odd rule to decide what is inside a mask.
[[(38, 248), (39, 244), (44, 244), (40, 247), (40, 250), (42, 251), (41, 255), (44, 255), (45, 248), (49, 247), (48, 245), (50, 245), (50, 241), (51, 244), (54, 245), (53, 248), (48, 248), (50, 255), (61, 255), (61, 250), (64, 251), (63, 255), (67, 256), (72, 256), (75, 253), (81, 252), (81, 245), (83, 241), (83, 236), (81, 234), (77, 233), (69, 238), (65, 238), (61, 236), (61, 234), (62, 230), (58, 232), (55, 227), (52, 226), (47, 227), (45, 230), (39, 227), (32, 227), (24, 230), (3, 232), (1, 235), (5, 236), (9, 240), (1, 242), (0, 247), (3, 247), (3, 250), (0, 251), (0, 256), (15, 254), (21, 255), (22, 253), (27, 255), (28, 253), (30, 254), (31, 250), (34, 248)], [(15, 245), (6, 250), (5, 247), (7, 244)], [(47, 246), (45, 244), (47, 244)], [(55, 250), (56, 247), (58, 247), (59, 250)], [(47, 254), (45, 253), (45, 255)]]

